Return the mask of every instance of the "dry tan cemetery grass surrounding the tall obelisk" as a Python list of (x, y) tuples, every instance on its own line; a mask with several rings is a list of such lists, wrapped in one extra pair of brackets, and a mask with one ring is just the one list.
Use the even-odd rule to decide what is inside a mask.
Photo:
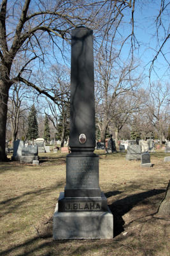
[(40, 165), (0, 163), (0, 256), (167, 256), (169, 216), (157, 209), (169, 182), (169, 154), (151, 154), (152, 168), (124, 153), (99, 154), (100, 187), (114, 216), (113, 239), (53, 241), (52, 215), (66, 184), (66, 154), (40, 154)]

